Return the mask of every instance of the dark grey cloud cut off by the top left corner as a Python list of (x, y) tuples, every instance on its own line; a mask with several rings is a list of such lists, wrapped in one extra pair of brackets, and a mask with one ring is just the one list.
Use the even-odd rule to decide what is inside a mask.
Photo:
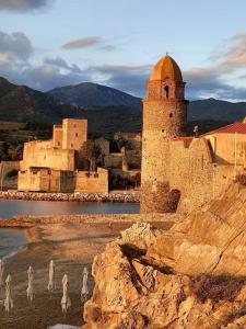
[(28, 11), (44, 8), (54, 0), (0, 0), (0, 10)]

